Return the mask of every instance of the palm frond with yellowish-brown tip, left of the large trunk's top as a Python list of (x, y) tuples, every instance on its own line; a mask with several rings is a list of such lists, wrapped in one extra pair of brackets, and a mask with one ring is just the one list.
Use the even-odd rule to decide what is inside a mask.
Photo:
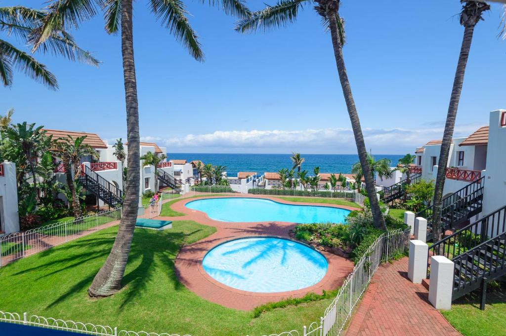
[(101, 0), (53, 0), (45, 8), (47, 14), (33, 32), (32, 51), (37, 50), (54, 31), (77, 28), (82, 21), (91, 19), (97, 14), (97, 6), (101, 5)]

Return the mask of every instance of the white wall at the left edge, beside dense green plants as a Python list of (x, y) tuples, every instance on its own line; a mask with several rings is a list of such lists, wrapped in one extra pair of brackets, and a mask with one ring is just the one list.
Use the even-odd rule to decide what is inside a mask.
[(0, 212), (2, 231), (12, 233), (19, 231), (18, 188), (16, 165), (4, 161), (4, 176), (0, 176)]

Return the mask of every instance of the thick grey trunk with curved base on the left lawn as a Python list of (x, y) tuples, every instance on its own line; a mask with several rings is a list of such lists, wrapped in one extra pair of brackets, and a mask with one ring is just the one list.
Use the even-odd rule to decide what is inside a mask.
[(133, 0), (123, 0), (121, 3), (121, 54), (126, 102), (126, 131), (129, 142), (126, 195), (114, 245), (88, 289), (91, 297), (109, 296), (121, 288), (121, 279), (128, 261), (137, 220), (140, 183), (139, 108), (134, 63), (132, 2)]

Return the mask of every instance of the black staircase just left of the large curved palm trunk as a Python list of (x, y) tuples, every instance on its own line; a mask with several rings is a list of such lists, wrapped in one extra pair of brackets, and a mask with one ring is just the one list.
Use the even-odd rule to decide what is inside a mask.
[(79, 182), (86, 190), (91, 191), (91, 193), (112, 208), (123, 204), (123, 191), (91, 170), (90, 167), (82, 166)]

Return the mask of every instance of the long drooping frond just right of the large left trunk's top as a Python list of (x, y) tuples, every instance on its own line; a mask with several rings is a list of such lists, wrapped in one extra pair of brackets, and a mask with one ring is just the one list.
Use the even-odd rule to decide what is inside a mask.
[(156, 18), (181, 42), (197, 61), (204, 60), (197, 34), (192, 29), (185, 5), (180, 0), (151, 0), (151, 11)]

